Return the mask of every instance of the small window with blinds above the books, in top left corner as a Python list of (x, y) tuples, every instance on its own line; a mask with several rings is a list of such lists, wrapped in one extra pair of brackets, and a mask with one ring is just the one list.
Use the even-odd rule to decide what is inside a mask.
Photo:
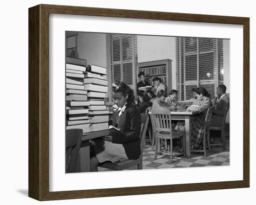
[(78, 58), (78, 35), (66, 38), (66, 57)]

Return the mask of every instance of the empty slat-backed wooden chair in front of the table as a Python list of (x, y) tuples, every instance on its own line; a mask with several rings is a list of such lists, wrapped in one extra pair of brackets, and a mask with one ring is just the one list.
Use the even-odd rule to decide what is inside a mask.
[[(172, 139), (181, 139), (182, 140), (182, 152), (179, 154), (176, 154), (174, 156), (178, 156), (183, 154), (186, 156), (186, 139), (185, 139), (185, 131), (176, 131), (172, 130), (172, 122), (171, 122), (171, 114), (170, 110), (168, 109), (152, 109), (151, 114), (153, 117), (153, 123), (155, 125), (155, 159), (157, 157), (158, 153), (165, 152), (166, 154), (170, 155), (170, 163), (172, 163), (173, 158), (173, 146), (172, 146)], [(167, 141), (170, 140), (170, 150), (167, 151), (166, 149), (160, 150), (158, 152), (158, 144), (160, 139), (163, 139)], [(161, 146), (159, 146), (161, 149)], [(167, 148), (167, 146), (165, 146)]]

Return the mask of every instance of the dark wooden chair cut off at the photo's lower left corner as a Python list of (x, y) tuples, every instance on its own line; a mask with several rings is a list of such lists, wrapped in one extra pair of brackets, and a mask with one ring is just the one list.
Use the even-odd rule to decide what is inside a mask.
[(80, 154), (82, 129), (66, 130), (66, 173), (80, 172)]

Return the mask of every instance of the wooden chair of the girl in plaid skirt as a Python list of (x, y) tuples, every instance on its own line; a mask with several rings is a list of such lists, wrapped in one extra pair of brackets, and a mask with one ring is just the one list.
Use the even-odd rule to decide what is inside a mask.
[(203, 153), (204, 156), (207, 156), (207, 152), (206, 152), (206, 147), (208, 145), (208, 150), (209, 152), (211, 151), (211, 147), (210, 145), (210, 123), (211, 123), (211, 118), (212, 118), (212, 113), (213, 113), (214, 107), (209, 108), (207, 110), (206, 116), (205, 116), (205, 120), (204, 120), (204, 135), (202, 138), (202, 150), (191, 150), (191, 152), (193, 153)]

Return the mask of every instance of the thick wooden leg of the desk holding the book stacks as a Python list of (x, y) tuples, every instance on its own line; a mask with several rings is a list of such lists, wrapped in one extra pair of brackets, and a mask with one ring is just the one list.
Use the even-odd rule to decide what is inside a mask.
[(81, 172), (90, 172), (90, 141), (81, 141), (80, 147)]

